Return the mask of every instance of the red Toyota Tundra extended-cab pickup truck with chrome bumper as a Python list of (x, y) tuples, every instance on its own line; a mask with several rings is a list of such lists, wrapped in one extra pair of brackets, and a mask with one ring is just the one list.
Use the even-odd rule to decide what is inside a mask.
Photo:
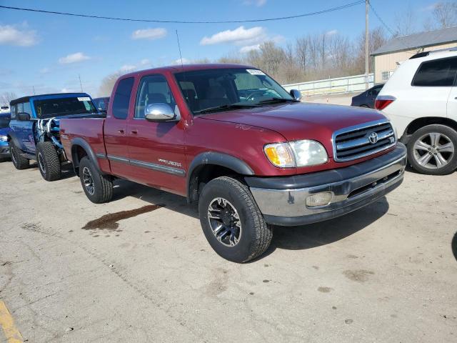
[(199, 202), (214, 250), (265, 252), (272, 225), (321, 222), (403, 181), (406, 149), (371, 109), (300, 102), (252, 66), (169, 66), (121, 76), (106, 119), (62, 119), (61, 141), (86, 196), (115, 178)]

